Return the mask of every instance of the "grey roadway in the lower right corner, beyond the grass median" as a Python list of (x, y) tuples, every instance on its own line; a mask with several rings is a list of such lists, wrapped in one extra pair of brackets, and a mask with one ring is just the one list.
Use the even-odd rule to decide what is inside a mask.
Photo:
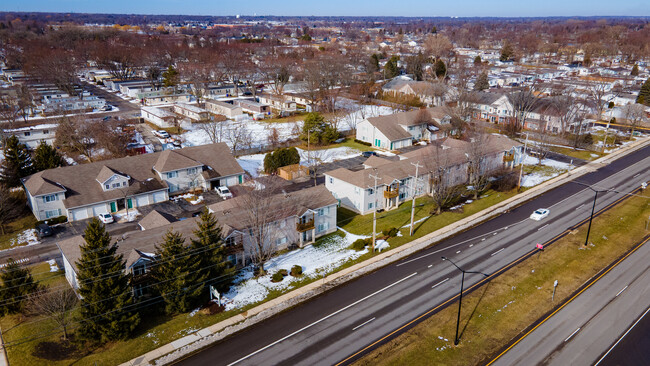
[[(529, 332), (492, 365), (578, 366), (598, 362), (600, 365), (647, 365), (650, 352), (639, 348), (638, 343), (620, 345), (621, 350), (627, 348), (625, 354), (612, 352), (619, 346), (616, 344), (619, 340), (635, 337), (625, 333), (647, 312), (649, 258), (650, 243), (646, 243)], [(642, 327), (643, 324), (639, 329)], [(641, 340), (643, 337), (638, 335)], [(638, 356), (645, 354), (645, 363), (640, 362), (642, 357), (635, 355), (637, 352)]]

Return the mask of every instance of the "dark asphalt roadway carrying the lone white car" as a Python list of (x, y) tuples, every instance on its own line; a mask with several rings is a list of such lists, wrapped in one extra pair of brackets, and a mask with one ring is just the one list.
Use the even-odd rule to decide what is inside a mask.
[[(650, 179), (648, 167), (650, 147), (577, 180), (598, 189), (630, 192)], [(602, 193), (596, 209), (621, 197), (621, 193)], [(453, 299), (460, 286), (459, 272), (442, 261), (441, 256), (453, 259), (467, 270), (497, 273), (530, 252), (536, 243), (552, 240), (587, 218), (593, 199), (593, 192), (584, 185), (565, 184), (507, 214), (230, 336), (180, 363), (349, 363), (396, 334), (396, 330), (407, 329), (405, 324)], [(528, 219), (540, 207), (550, 208), (550, 216), (539, 222)], [(480, 280), (478, 276), (468, 276), (465, 286)]]

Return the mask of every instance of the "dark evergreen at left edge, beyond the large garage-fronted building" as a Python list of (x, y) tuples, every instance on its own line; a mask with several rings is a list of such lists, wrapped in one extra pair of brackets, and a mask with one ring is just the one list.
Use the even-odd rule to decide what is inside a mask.
[(20, 186), (20, 178), (33, 173), (32, 158), (27, 146), (12, 135), (5, 140), (5, 158), (0, 165), (0, 183), (7, 188)]

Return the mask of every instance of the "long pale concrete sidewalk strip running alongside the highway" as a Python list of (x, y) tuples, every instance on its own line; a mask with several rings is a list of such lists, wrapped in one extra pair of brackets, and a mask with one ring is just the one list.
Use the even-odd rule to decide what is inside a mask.
[(120, 366), (148, 365), (153, 364), (154, 360), (157, 360), (161, 364), (167, 364), (183, 358), (200, 348), (206, 347), (233, 333), (255, 325), (265, 319), (270, 318), (273, 315), (276, 315), (284, 310), (287, 310), (288, 308), (295, 306), (298, 303), (316, 297), (317, 295), (320, 295), (333, 287), (365, 275), (393, 262), (399, 261), (415, 252), (429, 247), (436, 242), (451, 237), (459, 231), (467, 230), (495, 216), (505, 213), (506, 211), (511, 210), (516, 206), (519, 206), (550, 189), (557, 188), (567, 183), (568, 181), (575, 179), (576, 177), (594, 172), (602, 166), (605, 166), (610, 162), (622, 156), (625, 156), (628, 153), (644, 148), (649, 144), (650, 138), (630, 143), (620, 148), (616, 152), (591, 161), (588, 164), (576, 168), (572, 171), (563, 173), (523, 193), (497, 203), (494, 206), (488, 207), (462, 220), (456, 221), (455, 223), (447, 225), (419, 239), (413, 240), (400, 247), (376, 255), (375, 257), (372, 257), (364, 262), (357, 263), (344, 270), (333, 273), (323, 278), (322, 280), (314, 281), (308, 285), (290, 291), (273, 300), (267, 301), (252, 309), (249, 309), (247, 312), (235, 315), (219, 323), (215, 323), (207, 328), (203, 328), (195, 333), (187, 335), (183, 338), (179, 338), (155, 350), (149, 351), (144, 355), (122, 363)]

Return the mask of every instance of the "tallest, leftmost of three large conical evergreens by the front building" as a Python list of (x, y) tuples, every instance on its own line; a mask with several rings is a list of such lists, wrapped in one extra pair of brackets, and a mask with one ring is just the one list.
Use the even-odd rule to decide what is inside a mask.
[(79, 336), (93, 342), (127, 338), (140, 321), (125, 262), (104, 225), (93, 218), (84, 231), (77, 281), (81, 300)]

